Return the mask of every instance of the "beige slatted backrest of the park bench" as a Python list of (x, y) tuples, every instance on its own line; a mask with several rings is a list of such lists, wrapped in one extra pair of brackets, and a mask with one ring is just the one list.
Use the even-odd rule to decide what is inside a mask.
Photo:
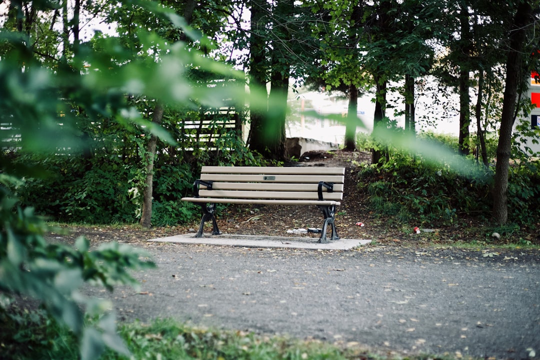
[(340, 201), (345, 168), (203, 166), (200, 179), (212, 181), (211, 190), (199, 186), (200, 197), (320, 200), (322, 191), (324, 200)]

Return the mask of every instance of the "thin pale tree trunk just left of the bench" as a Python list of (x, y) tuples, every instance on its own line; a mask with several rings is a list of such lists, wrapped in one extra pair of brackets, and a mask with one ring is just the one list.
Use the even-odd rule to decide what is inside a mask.
[[(163, 105), (160, 103), (154, 107), (154, 113), (152, 115), (152, 123), (161, 125), (163, 120)], [(152, 222), (152, 193), (154, 191), (154, 158), (156, 158), (156, 146), (158, 143), (158, 137), (154, 134), (150, 136), (148, 147), (146, 149), (144, 163), (146, 165), (146, 181), (144, 184), (143, 192), (143, 211), (140, 216), (140, 225), (145, 228), (149, 228)]]

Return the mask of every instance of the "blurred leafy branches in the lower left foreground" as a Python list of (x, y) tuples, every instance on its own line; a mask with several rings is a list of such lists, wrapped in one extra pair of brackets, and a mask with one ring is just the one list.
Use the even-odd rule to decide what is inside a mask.
[[(40, 302), (78, 338), (83, 359), (97, 358), (105, 345), (127, 354), (116, 334), (114, 314), (106, 313), (110, 304), (84, 297), (79, 288), (85, 282), (109, 290), (117, 284), (137, 287), (129, 269), (154, 266), (149, 255), (116, 242), (90, 250), (84, 236), (78, 237), (74, 246), (49, 243), (45, 235), (55, 229), (46, 225), (33, 208), (19, 205), (6, 186), (14, 182), (20, 181), (0, 174), (0, 291)], [(103, 316), (98, 327), (84, 326), (85, 313)]]

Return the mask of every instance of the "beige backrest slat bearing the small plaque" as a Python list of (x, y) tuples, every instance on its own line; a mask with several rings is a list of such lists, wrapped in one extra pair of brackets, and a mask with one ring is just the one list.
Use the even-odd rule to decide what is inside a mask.
[[(266, 178), (265, 178), (266, 176)], [(280, 175), (280, 174), (207, 174), (200, 176), (201, 180), (213, 181), (236, 181), (236, 182), (284, 182), (295, 184), (319, 184), (319, 181), (333, 182), (334, 184), (343, 184), (345, 176), (343, 175)]]

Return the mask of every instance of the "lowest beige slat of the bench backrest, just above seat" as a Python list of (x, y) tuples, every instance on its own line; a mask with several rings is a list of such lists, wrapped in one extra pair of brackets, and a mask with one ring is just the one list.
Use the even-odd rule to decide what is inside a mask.
[[(227, 199), (298, 199), (318, 200), (317, 192), (296, 191), (238, 191), (238, 190), (199, 190), (199, 196), (205, 198)], [(324, 200), (341, 200), (343, 193), (323, 193)]]

